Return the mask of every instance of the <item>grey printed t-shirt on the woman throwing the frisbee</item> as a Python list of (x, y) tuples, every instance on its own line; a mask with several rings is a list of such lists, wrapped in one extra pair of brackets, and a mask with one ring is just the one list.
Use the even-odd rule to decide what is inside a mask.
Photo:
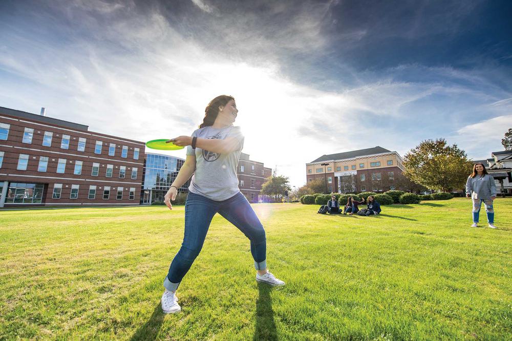
[(222, 201), (239, 193), (237, 166), (244, 147), (244, 136), (240, 127), (229, 125), (222, 129), (205, 126), (192, 133), (201, 139), (236, 138), (240, 144), (236, 151), (226, 154), (204, 151), (187, 146), (187, 155), (196, 155), (196, 171), (188, 190), (211, 200)]

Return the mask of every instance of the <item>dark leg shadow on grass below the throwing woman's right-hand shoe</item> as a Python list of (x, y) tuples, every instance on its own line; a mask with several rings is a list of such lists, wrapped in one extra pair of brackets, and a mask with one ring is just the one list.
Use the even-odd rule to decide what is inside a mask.
[(256, 328), (252, 339), (253, 341), (277, 340), (278, 332), (275, 329), (274, 311), (270, 297), (272, 287), (265, 283), (258, 283), (258, 290), (260, 294), (256, 301)]

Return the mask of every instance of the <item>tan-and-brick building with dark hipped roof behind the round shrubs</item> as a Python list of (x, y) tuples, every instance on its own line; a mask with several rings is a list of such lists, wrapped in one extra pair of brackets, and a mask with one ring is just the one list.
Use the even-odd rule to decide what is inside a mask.
[(393, 188), (394, 178), (403, 171), (397, 152), (380, 146), (323, 155), (306, 163), (306, 181), (327, 180), (327, 191), (352, 193)]

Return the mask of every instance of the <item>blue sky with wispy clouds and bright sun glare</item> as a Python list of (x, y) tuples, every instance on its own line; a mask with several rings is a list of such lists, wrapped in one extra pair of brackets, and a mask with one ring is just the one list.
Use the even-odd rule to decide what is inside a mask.
[(510, 17), (499, 0), (0, 0), (0, 106), (148, 141), (231, 95), (243, 152), (297, 187), (307, 162), (376, 145), (485, 159), (512, 127)]

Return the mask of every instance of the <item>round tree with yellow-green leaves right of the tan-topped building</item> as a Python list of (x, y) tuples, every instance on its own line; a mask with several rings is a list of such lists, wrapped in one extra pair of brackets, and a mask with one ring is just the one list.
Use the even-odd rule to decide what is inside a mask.
[(431, 189), (451, 191), (462, 188), (473, 163), (457, 144), (445, 139), (425, 140), (404, 157), (405, 176)]

